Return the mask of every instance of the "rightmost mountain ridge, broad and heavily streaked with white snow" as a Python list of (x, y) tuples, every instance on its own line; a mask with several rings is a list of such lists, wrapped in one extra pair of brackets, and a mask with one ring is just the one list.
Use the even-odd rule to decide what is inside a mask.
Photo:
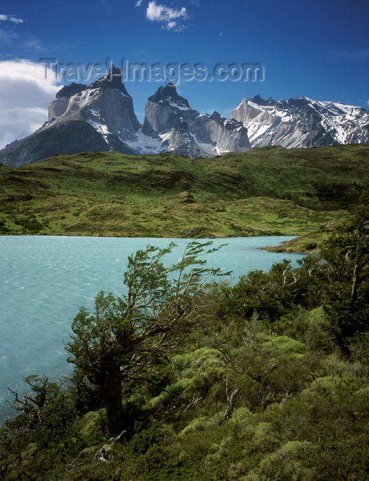
[(232, 118), (243, 122), (253, 147), (369, 143), (369, 111), (337, 102), (255, 96), (244, 98), (232, 111)]

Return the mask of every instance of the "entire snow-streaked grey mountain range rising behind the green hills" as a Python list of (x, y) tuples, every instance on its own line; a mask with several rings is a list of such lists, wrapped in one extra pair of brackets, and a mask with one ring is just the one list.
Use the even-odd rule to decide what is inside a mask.
[(131, 155), (175, 153), (215, 157), (251, 147), (328, 146), (369, 143), (369, 111), (306, 97), (290, 100), (244, 98), (229, 120), (199, 113), (175, 85), (148, 98), (140, 124), (120, 69), (90, 85), (66, 85), (49, 104), (49, 120), (0, 150), (0, 163), (19, 167), (51, 157), (90, 151)]

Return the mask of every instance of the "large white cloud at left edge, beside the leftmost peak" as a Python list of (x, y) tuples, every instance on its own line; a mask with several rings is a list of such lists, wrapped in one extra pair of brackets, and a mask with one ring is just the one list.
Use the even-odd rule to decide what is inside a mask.
[(60, 86), (41, 63), (0, 61), (0, 148), (47, 121), (47, 107)]

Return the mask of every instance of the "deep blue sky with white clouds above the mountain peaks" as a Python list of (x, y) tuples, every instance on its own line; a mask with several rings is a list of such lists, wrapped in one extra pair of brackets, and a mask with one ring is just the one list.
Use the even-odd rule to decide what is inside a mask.
[[(45, 77), (41, 58), (120, 66), (259, 63), (264, 80), (181, 80), (201, 113), (230, 117), (243, 98), (307, 96), (369, 101), (367, 0), (0, 0), (0, 147), (47, 120), (65, 78)], [(164, 82), (125, 82), (137, 118)]]

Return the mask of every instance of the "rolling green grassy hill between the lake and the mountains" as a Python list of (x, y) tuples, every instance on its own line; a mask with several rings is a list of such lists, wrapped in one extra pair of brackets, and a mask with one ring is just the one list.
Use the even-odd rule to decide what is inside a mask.
[(2, 235), (284, 234), (307, 236), (298, 249), (312, 250), (369, 186), (369, 146), (273, 146), (214, 159), (56, 155), (0, 164), (0, 186)]

